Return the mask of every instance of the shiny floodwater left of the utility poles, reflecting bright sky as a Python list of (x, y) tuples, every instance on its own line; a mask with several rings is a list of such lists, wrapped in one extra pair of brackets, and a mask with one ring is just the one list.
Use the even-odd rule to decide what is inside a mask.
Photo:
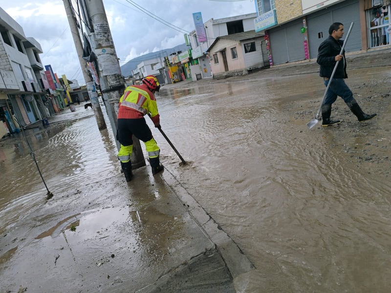
[[(25, 131), (43, 179), (54, 195), (85, 185), (91, 178), (96, 181), (111, 175), (118, 162), (110, 131), (99, 131), (94, 116)], [(18, 219), (20, 210), (42, 205), (46, 192), (23, 137), (1, 149), (0, 221), (4, 228)]]

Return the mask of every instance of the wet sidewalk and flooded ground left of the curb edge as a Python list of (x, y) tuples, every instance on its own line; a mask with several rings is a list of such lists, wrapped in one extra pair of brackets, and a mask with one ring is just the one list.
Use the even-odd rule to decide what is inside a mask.
[(236, 292), (251, 263), (169, 170), (127, 184), (92, 111), (48, 120), (25, 133), (52, 199), (22, 133), (1, 141), (1, 293)]

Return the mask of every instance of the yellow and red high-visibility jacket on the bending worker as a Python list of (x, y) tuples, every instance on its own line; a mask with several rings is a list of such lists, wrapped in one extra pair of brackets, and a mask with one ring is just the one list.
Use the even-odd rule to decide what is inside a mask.
[(154, 124), (159, 124), (155, 96), (145, 84), (130, 85), (119, 100), (118, 119), (137, 119), (150, 113)]

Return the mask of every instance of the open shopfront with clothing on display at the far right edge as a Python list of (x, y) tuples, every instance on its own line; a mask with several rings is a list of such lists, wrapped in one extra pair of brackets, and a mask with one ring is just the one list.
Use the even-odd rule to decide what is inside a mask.
[(390, 3), (390, 0), (372, 0), (365, 3), (369, 48), (390, 44), (390, 31), (387, 30), (390, 27)]

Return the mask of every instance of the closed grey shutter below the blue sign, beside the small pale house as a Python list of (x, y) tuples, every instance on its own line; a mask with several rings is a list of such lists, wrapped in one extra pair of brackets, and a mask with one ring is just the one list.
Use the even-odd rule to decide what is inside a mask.
[(273, 64), (282, 64), (305, 59), (302, 20), (296, 20), (269, 31)]

